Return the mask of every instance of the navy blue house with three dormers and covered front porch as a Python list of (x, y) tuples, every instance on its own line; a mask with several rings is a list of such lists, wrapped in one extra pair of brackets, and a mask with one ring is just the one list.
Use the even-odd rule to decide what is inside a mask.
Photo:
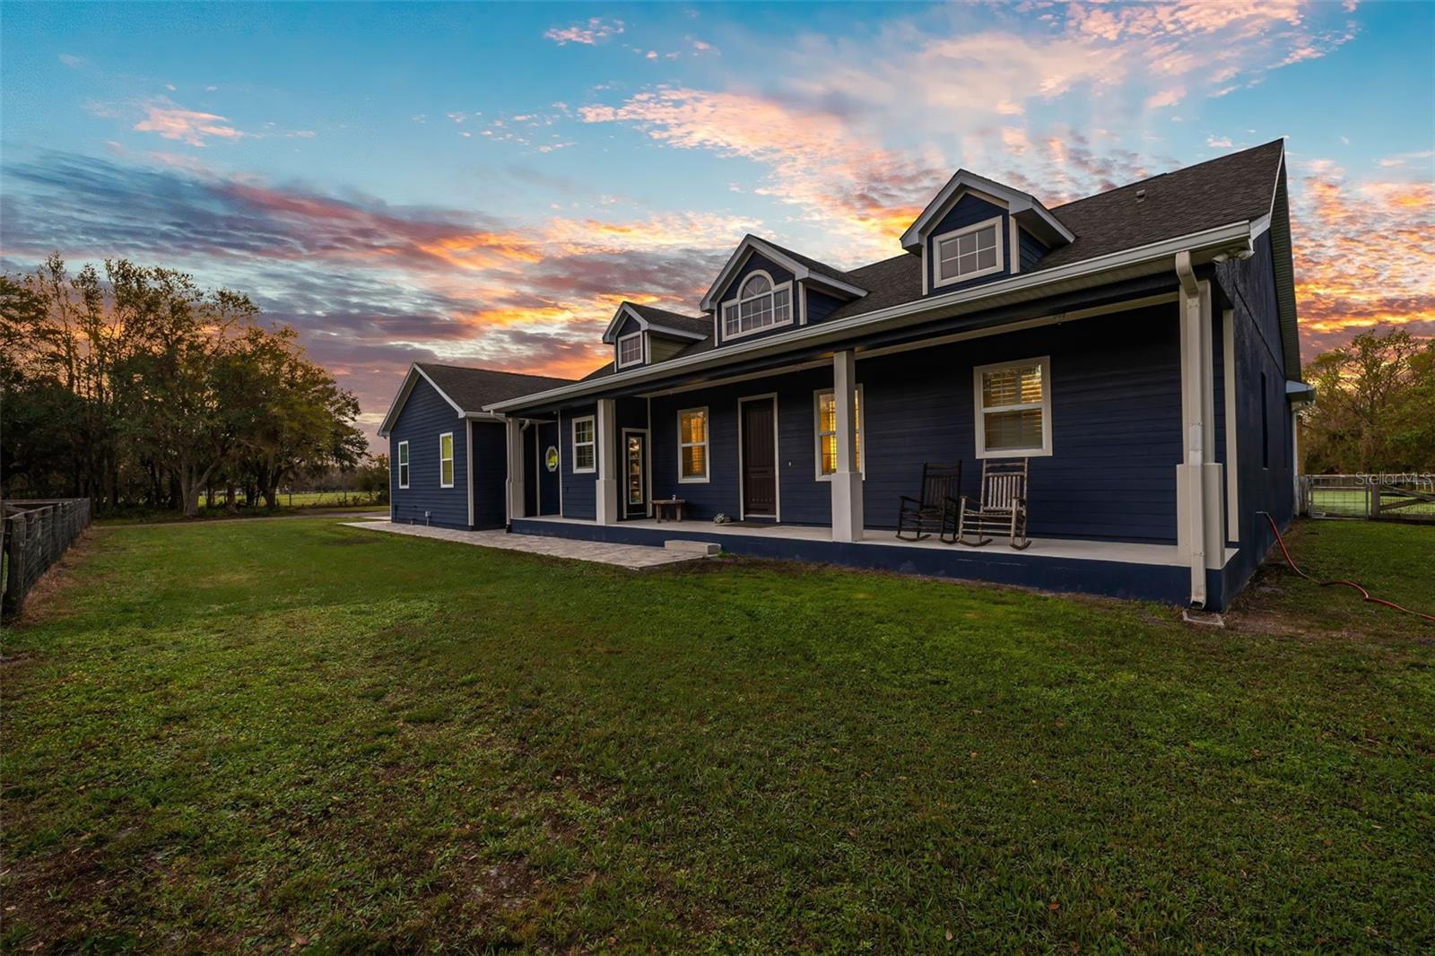
[[(1312, 398), (1281, 142), (1052, 208), (959, 171), (894, 251), (842, 270), (743, 237), (695, 314), (624, 303), (607, 365), (491, 418), (419, 398), (410, 372), (386, 422), (412, 469), (395, 520), (1223, 609), (1271, 545), (1266, 515), (1292, 518)], [(455, 465), (471, 491), (451, 504), (455, 408), (505, 438)], [(1027, 550), (894, 537), (924, 462), (963, 462), (976, 495), (989, 458), (1029, 461)], [(684, 521), (659, 525), (672, 498)]]

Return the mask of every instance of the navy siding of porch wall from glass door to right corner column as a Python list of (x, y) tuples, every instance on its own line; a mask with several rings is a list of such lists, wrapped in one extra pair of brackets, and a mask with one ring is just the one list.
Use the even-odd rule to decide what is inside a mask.
[[(931, 346), (857, 363), (864, 412), (864, 511), (893, 528), (900, 495), (918, 491), (927, 461), (961, 461), (976, 495), (973, 367), (1050, 356), (1053, 455), (1030, 461), (1030, 533), (1175, 541), (1181, 458), (1180, 343), (1174, 306)], [(831, 484), (815, 475), (814, 392), (827, 367), (654, 398), (653, 494), (687, 514), (739, 515), (738, 402), (778, 395), (778, 495), (785, 524), (828, 524)], [(709, 479), (677, 481), (677, 412), (709, 409)]]

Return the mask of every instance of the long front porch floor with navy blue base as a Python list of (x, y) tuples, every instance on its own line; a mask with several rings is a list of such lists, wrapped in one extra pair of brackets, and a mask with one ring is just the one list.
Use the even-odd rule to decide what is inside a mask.
[[(1139, 544), (1069, 538), (1032, 538), (1025, 551), (1002, 541), (979, 548), (943, 544), (936, 537), (903, 541), (887, 528), (864, 528), (857, 540), (837, 541), (827, 525), (775, 524), (733, 527), (707, 521), (633, 520), (598, 524), (584, 518), (515, 518), (517, 534), (646, 544), (669, 540), (716, 541), (723, 551), (745, 557), (841, 564), (867, 570), (924, 574), (957, 580), (1015, 584), (1045, 591), (1104, 594), (1184, 604), (1190, 597), (1191, 566), (1175, 544)], [(1236, 556), (1225, 550), (1225, 560)], [(1207, 607), (1221, 610), (1221, 571), (1207, 571), (1213, 596)]]

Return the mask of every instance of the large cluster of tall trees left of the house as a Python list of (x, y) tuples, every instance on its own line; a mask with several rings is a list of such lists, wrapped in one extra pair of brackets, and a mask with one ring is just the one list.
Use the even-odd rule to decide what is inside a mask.
[(128, 260), (0, 277), (0, 488), (175, 510), (277, 507), (364, 456), (359, 403), (244, 294)]

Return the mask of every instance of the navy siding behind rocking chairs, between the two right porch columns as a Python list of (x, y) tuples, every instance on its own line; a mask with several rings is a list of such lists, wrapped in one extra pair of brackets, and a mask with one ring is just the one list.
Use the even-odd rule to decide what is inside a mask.
[(924, 461), (979, 494), (973, 367), (1050, 356), (1052, 455), (1030, 459), (1030, 534), (1175, 541), (1181, 370), (1174, 306), (860, 362), (868, 527), (895, 527)]

